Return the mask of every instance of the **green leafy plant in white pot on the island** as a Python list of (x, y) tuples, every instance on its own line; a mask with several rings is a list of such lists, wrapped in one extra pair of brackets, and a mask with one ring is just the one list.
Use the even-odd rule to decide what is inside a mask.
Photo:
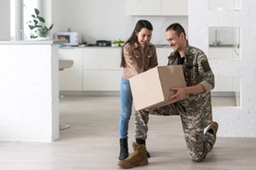
[(31, 30), (30, 38), (38, 38), (38, 37), (48, 37), (49, 31), (54, 26), (47, 27), (45, 26), (45, 20), (43, 16), (40, 16), (40, 12), (38, 8), (34, 9), (35, 14), (32, 14), (32, 20), (29, 20), (26, 24), (29, 26)]

